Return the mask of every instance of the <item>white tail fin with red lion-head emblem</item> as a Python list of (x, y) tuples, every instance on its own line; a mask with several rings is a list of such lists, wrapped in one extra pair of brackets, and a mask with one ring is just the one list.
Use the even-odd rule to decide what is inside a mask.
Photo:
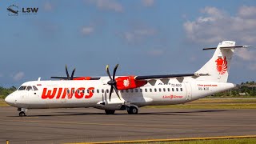
[[(206, 48), (204, 50), (216, 49), (214, 56), (196, 74), (202, 74), (197, 80), (227, 82), (230, 73), (230, 61), (234, 54), (235, 42), (220, 42), (217, 48)], [(241, 47), (241, 46), (240, 46)]]

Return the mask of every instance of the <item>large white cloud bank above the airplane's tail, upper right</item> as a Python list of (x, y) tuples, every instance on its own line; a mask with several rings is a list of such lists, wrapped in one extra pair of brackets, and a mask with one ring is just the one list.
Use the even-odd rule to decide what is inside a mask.
[(215, 7), (205, 7), (201, 13), (203, 16), (183, 24), (190, 42), (234, 40), (245, 45), (256, 42), (256, 6), (242, 6), (234, 16)]

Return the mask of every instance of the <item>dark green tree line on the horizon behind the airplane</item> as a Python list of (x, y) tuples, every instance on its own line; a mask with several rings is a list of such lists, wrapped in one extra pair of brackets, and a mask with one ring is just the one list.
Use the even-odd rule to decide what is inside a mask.
[[(0, 86), (0, 98), (4, 99), (7, 95), (17, 90), (15, 86), (5, 88)], [(242, 82), (233, 90), (227, 90), (222, 93), (214, 94), (215, 97), (256, 97), (256, 82)]]

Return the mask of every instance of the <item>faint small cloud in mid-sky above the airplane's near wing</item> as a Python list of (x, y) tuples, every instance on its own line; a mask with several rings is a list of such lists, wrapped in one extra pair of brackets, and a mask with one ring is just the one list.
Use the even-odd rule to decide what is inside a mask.
[(124, 32), (123, 38), (125, 38), (127, 42), (139, 42), (146, 37), (153, 36), (154, 34), (156, 34), (156, 30), (154, 29), (140, 28)]

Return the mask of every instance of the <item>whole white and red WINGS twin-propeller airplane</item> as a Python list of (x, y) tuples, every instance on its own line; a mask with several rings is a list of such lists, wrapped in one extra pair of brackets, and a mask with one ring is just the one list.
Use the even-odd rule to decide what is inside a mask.
[(8, 95), (5, 101), (18, 107), (19, 116), (26, 116), (28, 109), (94, 107), (114, 114), (115, 110), (127, 110), (138, 114), (138, 108), (149, 105), (174, 105), (191, 102), (207, 95), (230, 90), (235, 84), (227, 82), (230, 61), (235, 48), (233, 41), (220, 42), (214, 55), (193, 74), (166, 74), (145, 76), (74, 77), (74, 70), (62, 80), (25, 82)]

